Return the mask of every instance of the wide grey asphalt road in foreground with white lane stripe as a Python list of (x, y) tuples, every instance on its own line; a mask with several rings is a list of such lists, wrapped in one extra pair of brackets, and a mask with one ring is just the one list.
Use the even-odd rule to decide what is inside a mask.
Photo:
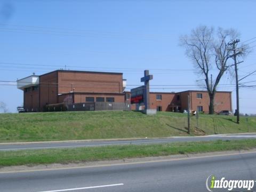
[[(0, 191), (207, 191), (206, 178), (212, 174), (218, 180), (222, 177), (227, 180), (256, 180), (255, 162), (256, 152), (251, 152), (174, 161), (0, 173)], [(253, 190), (256, 190), (255, 186)]]

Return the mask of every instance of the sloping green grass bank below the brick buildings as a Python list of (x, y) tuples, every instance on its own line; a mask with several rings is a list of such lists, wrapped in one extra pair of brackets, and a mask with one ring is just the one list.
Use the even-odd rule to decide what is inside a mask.
[[(256, 132), (256, 118), (200, 115), (191, 117), (191, 135)], [(170, 137), (188, 135), (187, 115), (135, 111), (74, 111), (0, 114), (0, 142)]]

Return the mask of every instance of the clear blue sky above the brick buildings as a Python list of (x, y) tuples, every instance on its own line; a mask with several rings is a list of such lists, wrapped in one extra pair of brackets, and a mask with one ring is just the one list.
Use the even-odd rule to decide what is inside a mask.
[[(204, 77), (193, 70), (179, 37), (206, 25), (234, 28), (241, 42), (247, 41), (256, 36), (255, 7), (252, 0), (1, 0), (0, 81), (15, 82), (60, 68), (113, 71), (123, 73), (130, 90), (142, 85), (143, 70), (149, 69), (154, 76), (150, 91), (202, 90), (198, 84)], [(255, 40), (246, 43), (253, 47)], [(256, 70), (255, 54), (252, 49), (238, 65), (239, 78)], [(236, 109), (234, 76), (225, 74), (221, 84), (219, 91), (232, 91)], [(0, 101), (9, 112), (17, 112), (23, 105), (22, 91), (10, 82), (0, 83), (0, 89)], [(239, 90), (241, 113), (256, 113), (255, 93)]]

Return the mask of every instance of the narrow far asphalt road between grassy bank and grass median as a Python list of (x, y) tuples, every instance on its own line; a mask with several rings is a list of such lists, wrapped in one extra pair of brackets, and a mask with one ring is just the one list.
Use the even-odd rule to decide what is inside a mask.
[(141, 145), (153, 143), (170, 143), (182, 141), (212, 141), (212, 140), (235, 140), (256, 138), (256, 134), (237, 135), (209, 135), (205, 137), (172, 137), (163, 139), (138, 139), (138, 140), (112, 140), (112, 141), (76, 141), (76, 142), (42, 142), (0, 145), (2, 150), (22, 150), (22, 149), (47, 149), (47, 148), (75, 148), (75, 147), (95, 147), (107, 145)]

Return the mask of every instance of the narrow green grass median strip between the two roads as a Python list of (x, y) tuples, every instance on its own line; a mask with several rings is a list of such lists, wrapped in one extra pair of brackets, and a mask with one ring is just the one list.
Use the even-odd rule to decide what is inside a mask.
[(205, 153), (213, 151), (252, 149), (256, 139), (180, 142), (161, 145), (124, 145), (74, 149), (41, 149), (0, 151), (0, 166), (78, 163), (135, 157)]

